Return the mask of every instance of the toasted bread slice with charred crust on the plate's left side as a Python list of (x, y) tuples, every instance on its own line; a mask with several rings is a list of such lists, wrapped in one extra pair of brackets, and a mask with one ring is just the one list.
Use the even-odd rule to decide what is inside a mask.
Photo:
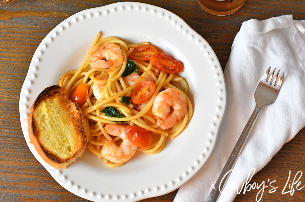
[(55, 168), (66, 168), (84, 152), (90, 138), (88, 120), (59, 85), (43, 90), (29, 117), (30, 143)]

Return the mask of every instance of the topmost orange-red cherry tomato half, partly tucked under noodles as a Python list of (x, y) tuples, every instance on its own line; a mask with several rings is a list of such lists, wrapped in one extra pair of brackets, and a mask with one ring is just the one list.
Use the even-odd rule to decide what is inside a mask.
[(135, 47), (135, 50), (129, 55), (134, 60), (150, 60), (153, 54), (156, 54), (158, 51), (152, 45), (143, 45)]

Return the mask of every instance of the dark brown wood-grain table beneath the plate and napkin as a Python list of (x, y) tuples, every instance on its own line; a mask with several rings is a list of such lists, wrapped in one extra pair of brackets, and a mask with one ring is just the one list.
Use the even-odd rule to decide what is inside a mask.
[[(84, 9), (118, 2), (116, 0), (16, 0), (0, 7), (0, 201), (88, 201), (60, 186), (34, 158), (20, 126), (19, 95), (31, 58), (41, 40), (57, 24)], [(231, 44), (241, 23), (248, 19), (267, 19), (292, 14), (305, 19), (305, 4), (300, 0), (247, 0), (230, 16), (214, 16), (195, 0), (138, 0), (174, 12), (203, 36), (214, 49), (222, 68), (228, 60)], [(276, 180), (274, 193), (264, 192), (261, 201), (305, 201), (305, 188), (293, 196), (282, 194), (289, 170), (291, 178), (305, 172), (305, 128), (286, 143), (251, 183)], [(304, 185), (305, 177), (300, 181)], [(302, 186), (303, 186), (302, 185)], [(173, 201), (177, 190), (144, 201)], [(239, 194), (235, 202), (255, 201), (257, 190)]]

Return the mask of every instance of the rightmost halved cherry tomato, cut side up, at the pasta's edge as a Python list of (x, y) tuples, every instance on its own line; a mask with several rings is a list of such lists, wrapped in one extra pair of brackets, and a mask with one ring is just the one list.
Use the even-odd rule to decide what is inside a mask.
[(160, 52), (154, 54), (150, 58), (150, 61), (156, 68), (171, 74), (179, 73), (183, 68), (182, 63), (179, 60)]

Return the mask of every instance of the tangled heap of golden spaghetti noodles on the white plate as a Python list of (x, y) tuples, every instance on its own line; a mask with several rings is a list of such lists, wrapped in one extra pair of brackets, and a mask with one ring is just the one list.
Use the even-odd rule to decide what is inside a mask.
[[(187, 122), (192, 117), (193, 108), (190, 99), (187, 97), (189, 92), (188, 83), (177, 74), (166, 73), (159, 68), (156, 68), (152, 64), (152, 61), (132, 60), (140, 71), (139, 73), (134, 73), (138, 76), (138, 79), (132, 84), (129, 84), (129, 81), (127, 81), (129, 76), (132, 77), (132, 73), (127, 76), (122, 76), (125, 70), (128, 70), (129, 68), (127, 67), (127, 65), (129, 65), (127, 58), (133, 54), (137, 47), (140, 45), (149, 45), (149, 42), (127, 45), (117, 37), (106, 37), (102, 40), (99, 40), (99, 38), (100, 34), (98, 33), (89, 49), (88, 56), (81, 64), (80, 68), (63, 74), (60, 78), (59, 85), (64, 89), (68, 98), (70, 98), (72, 92), (74, 92), (81, 83), (87, 85), (88, 94), (87, 97), (85, 97), (84, 104), (81, 106), (83, 116), (89, 120), (91, 139), (87, 144), (87, 148), (93, 154), (97, 155), (99, 159), (104, 159), (105, 165), (114, 168), (123, 165), (124, 162), (111, 162), (102, 155), (101, 151), (107, 141), (120, 145), (122, 142), (124, 143), (124, 140), (120, 138), (120, 135), (116, 137), (108, 134), (105, 130), (107, 124), (140, 126), (147, 131), (151, 131), (153, 137), (152, 144), (149, 148), (138, 147), (137, 150), (147, 154), (157, 154), (165, 147), (167, 138), (173, 139), (183, 131)], [(115, 68), (108, 68), (102, 65), (98, 68), (95, 66), (92, 67), (93, 65), (91, 64), (93, 64), (93, 62), (91, 60), (96, 59), (97, 57), (94, 51), (100, 47), (106, 46), (105, 44), (110, 43), (116, 44), (116, 47), (120, 48), (122, 52), (122, 62)], [(110, 50), (112, 51), (112, 49)], [(117, 55), (114, 56), (117, 57)], [(102, 64), (105, 65), (106, 63), (108, 64), (108, 59), (102, 59), (104, 59), (104, 61), (99, 62), (102, 62)], [(114, 66), (115, 61), (112, 61), (112, 63)], [(135, 70), (132, 72), (137, 71)], [(148, 77), (150, 77), (154, 84), (153, 87), (155, 88), (155, 91), (145, 102), (146, 105), (142, 106), (142, 104), (135, 104), (134, 102), (122, 103), (121, 99), (130, 97), (133, 89), (140, 83), (142, 84), (142, 81), (147, 80), (146, 78)], [(176, 82), (180, 82), (182, 86), (184, 86), (184, 91), (181, 91), (173, 85)], [(151, 107), (155, 102), (155, 98), (158, 96), (159, 92), (164, 89), (176, 89), (178, 92), (181, 92), (181, 94), (186, 97), (185, 106), (187, 107), (185, 116), (181, 117), (181, 120), (179, 120), (177, 124), (174, 124), (174, 126), (167, 129), (162, 129), (158, 125), (158, 121), (151, 112)], [(99, 90), (99, 95), (103, 96), (103, 98), (99, 98), (99, 96), (96, 95), (96, 90)], [(111, 117), (109, 114), (103, 113), (102, 110), (106, 108), (110, 109), (109, 107), (115, 108), (119, 112), (119, 116)]]

